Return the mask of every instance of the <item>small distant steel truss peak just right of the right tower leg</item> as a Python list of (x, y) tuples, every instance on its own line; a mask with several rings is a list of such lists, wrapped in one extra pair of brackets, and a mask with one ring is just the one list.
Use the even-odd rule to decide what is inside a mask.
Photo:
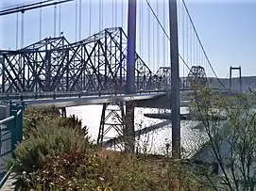
[(192, 66), (190, 72), (185, 81), (185, 86), (187, 88), (193, 88), (194, 85), (206, 85), (207, 77), (203, 67)]

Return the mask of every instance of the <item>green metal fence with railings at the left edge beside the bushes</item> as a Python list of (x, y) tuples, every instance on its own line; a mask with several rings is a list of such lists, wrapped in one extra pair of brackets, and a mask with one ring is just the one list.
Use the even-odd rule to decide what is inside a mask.
[(12, 157), (17, 143), (23, 139), (23, 104), (9, 102), (6, 106), (8, 118), (0, 120), (0, 188), (9, 177), (4, 161)]

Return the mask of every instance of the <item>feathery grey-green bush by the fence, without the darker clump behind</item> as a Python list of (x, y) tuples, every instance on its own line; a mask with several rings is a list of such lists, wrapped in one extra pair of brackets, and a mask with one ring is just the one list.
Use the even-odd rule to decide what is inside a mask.
[(7, 163), (16, 174), (16, 188), (27, 188), (23, 173), (30, 173), (43, 167), (48, 160), (61, 153), (78, 151), (89, 153), (91, 145), (87, 137), (80, 135), (76, 129), (58, 127), (58, 119), (44, 121), (34, 130), (34, 134), (18, 145), (14, 151), (15, 158)]

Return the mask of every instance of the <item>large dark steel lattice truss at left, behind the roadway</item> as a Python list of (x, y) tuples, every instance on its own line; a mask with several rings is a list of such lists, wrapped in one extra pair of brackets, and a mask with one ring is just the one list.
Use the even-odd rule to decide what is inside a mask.
[[(140, 56), (135, 57), (135, 88), (163, 88), (170, 73), (154, 74)], [(0, 51), (0, 70), (1, 92), (124, 88), (127, 36), (122, 28), (108, 28), (74, 43), (48, 38), (18, 51)]]

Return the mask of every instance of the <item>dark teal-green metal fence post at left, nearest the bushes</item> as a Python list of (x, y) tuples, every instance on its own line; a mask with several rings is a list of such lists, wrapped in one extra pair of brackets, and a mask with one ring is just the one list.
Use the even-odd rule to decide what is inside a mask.
[(10, 116), (13, 116), (14, 119), (10, 120), (10, 132), (11, 132), (11, 151), (15, 150), (15, 144), (17, 142), (17, 105), (16, 103), (10, 103)]

